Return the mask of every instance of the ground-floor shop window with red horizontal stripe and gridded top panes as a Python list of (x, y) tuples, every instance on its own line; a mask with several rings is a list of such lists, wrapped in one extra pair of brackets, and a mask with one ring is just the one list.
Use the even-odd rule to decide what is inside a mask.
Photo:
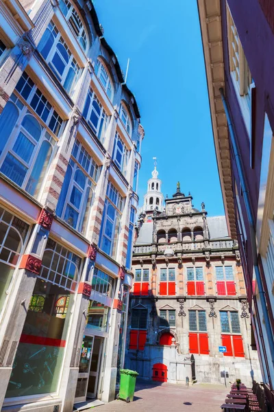
[(80, 266), (77, 255), (48, 240), (14, 359), (7, 398), (58, 390)]

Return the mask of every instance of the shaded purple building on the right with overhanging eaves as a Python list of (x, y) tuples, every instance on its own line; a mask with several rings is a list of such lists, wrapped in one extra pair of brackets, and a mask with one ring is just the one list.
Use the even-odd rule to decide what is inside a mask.
[(216, 157), (263, 380), (274, 385), (273, 4), (198, 0)]

